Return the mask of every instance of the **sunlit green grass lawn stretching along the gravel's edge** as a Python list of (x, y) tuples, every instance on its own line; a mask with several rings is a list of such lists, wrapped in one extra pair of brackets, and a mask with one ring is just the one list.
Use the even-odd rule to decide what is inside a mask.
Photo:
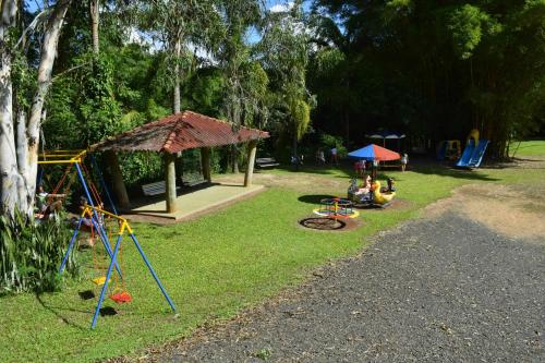
[[(287, 173), (289, 171), (276, 171)], [(392, 227), (469, 182), (532, 182), (543, 170), (455, 171), (440, 167), (388, 174), (397, 179), (403, 209), (361, 215), (363, 226), (350, 232), (317, 232), (296, 221), (315, 207), (320, 194), (344, 195), (348, 170), (310, 169), (323, 178), (344, 178), (342, 190), (301, 192), (270, 187), (257, 196), (193, 221), (172, 226), (134, 225), (140, 242), (178, 306), (178, 317), (160, 294), (135, 247), (126, 239), (123, 269), (133, 295), (118, 313), (100, 317), (90, 330), (96, 299), (78, 292), (93, 289), (92, 253), (81, 280), (68, 280), (62, 292), (21, 294), (0, 299), (0, 362), (89, 362), (134, 353), (154, 343), (186, 336), (205, 323), (232, 317), (241, 308), (292, 287), (329, 259), (351, 255), (368, 243), (377, 230)], [(98, 294), (98, 291), (96, 291)]]

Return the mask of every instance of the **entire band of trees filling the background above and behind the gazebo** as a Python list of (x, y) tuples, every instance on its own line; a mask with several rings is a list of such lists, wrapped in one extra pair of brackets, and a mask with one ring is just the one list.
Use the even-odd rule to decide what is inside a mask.
[[(380, 128), (429, 141), (479, 129), (505, 157), (512, 137), (545, 131), (545, 0), (267, 5), (1, 1), (2, 211), (32, 208), (40, 147), (86, 147), (182, 109), (265, 128), (266, 152), (294, 157)], [(125, 161), (129, 184), (160, 173), (159, 159)]]

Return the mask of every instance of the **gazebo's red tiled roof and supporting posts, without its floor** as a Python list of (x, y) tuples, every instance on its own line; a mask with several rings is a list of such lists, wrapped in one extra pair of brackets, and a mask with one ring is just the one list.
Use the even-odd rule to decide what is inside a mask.
[(108, 138), (93, 145), (92, 149), (109, 152), (107, 158), (112, 173), (113, 191), (118, 196), (120, 206), (125, 208), (130, 206), (130, 201), (116, 152), (161, 153), (166, 165), (166, 211), (174, 213), (177, 211), (175, 159), (180, 152), (201, 148), (203, 177), (210, 182), (210, 148), (247, 142), (247, 166), (244, 186), (250, 186), (252, 184), (257, 142), (266, 137), (269, 137), (269, 134), (265, 131), (245, 126), (234, 130), (229, 122), (193, 111), (184, 111)]

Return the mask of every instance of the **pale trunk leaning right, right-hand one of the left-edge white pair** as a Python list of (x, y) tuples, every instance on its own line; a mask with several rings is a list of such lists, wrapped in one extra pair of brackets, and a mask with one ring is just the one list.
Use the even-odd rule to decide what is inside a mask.
[[(31, 117), (27, 126), (28, 138), (28, 185), (27, 190), (31, 195), (36, 191), (36, 176), (38, 172), (38, 146), (39, 146), (39, 130), (43, 121), (43, 109), (47, 92), (51, 85), (51, 71), (57, 56), (57, 46), (64, 16), (72, 0), (58, 1), (55, 10), (47, 23), (44, 41), (41, 45), (41, 58), (38, 66), (38, 84), (34, 94), (31, 108)], [(34, 198), (32, 199), (32, 205)]]

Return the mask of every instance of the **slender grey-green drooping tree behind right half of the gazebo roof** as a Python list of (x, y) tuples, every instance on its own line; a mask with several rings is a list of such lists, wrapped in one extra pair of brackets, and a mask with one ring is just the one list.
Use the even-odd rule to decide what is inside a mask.
[[(252, 61), (246, 39), (249, 28), (261, 21), (264, 5), (261, 0), (223, 0), (219, 8), (225, 28), (217, 52), (225, 77), (223, 112), (234, 128), (253, 125), (266, 116), (263, 99), (268, 80)], [(231, 152), (233, 172), (239, 172), (237, 145)]]

